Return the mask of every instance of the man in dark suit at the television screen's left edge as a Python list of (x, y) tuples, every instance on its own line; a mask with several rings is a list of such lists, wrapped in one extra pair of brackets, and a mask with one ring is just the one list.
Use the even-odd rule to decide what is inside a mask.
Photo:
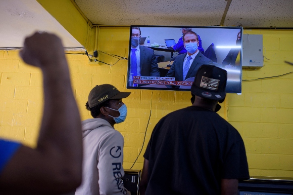
[(140, 29), (131, 29), (129, 76), (160, 76), (154, 50), (139, 45)]

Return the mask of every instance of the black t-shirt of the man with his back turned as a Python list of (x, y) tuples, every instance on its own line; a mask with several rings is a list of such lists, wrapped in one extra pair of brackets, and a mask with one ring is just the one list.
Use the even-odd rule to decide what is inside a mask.
[(249, 178), (240, 134), (216, 112), (190, 106), (153, 130), (146, 194), (220, 194), (221, 179)]

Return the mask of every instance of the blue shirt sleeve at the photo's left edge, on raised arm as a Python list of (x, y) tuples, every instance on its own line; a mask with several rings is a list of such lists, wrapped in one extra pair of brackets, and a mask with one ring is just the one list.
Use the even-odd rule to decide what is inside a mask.
[(19, 146), (20, 143), (0, 139), (0, 174)]

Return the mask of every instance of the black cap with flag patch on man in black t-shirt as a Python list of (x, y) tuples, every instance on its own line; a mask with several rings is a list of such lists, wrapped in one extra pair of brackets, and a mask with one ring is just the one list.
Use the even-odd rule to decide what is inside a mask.
[(226, 97), (227, 71), (214, 65), (202, 65), (191, 86), (191, 93), (212, 100)]

